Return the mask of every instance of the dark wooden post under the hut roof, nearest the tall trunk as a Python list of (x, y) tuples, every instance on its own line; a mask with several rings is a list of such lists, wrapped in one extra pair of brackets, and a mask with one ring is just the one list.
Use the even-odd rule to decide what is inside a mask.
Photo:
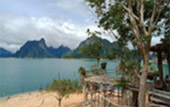
[(162, 68), (162, 52), (161, 51), (158, 51), (158, 69), (160, 72), (161, 85), (163, 86), (163, 68)]

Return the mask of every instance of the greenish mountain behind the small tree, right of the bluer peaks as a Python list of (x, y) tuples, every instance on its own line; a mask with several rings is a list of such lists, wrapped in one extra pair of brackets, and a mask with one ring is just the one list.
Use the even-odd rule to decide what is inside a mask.
[(75, 50), (69, 51), (68, 53), (64, 54), (63, 58), (90, 58), (86, 54), (82, 53), (81, 48), (84, 48), (90, 44), (93, 44), (96, 41), (100, 41), (103, 46), (101, 50), (102, 58), (107, 58), (110, 50), (116, 49), (119, 47), (118, 42), (111, 43), (106, 39), (91, 36), (87, 38), (85, 41), (81, 42), (80, 45)]

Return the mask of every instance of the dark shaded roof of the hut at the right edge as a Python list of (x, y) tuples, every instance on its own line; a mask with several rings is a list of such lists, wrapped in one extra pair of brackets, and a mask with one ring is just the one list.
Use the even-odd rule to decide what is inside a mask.
[(160, 52), (160, 51), (168, 52), (168, 51), (170, 51), (170, 42), (161, 43), (161, 44), (157, 44), (155, 46), (152, 46), (150, 51), (153, 51), (153, 52)]

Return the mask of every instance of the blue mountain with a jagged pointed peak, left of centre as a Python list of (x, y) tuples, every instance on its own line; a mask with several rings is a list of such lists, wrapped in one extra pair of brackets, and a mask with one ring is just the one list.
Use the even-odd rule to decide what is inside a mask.
[(59, 48), (47, 47), (45, 40), (42, 38), (39, 41), (28, 41), (14, 57), (19, 58), (61, 58), (61, 56), (70, 51), (68, 47), (60, 46)]

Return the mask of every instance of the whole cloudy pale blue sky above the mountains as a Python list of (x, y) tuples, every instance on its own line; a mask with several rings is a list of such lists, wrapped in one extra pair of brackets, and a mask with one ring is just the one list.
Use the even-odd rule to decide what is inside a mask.
[(0, 0), (0, 47), (15, 52), (28, 40), (44, 38), (48, 46), (74, 49), (88, 37), (87, 28), (99, 30), (87, 8), (83, 0)]

